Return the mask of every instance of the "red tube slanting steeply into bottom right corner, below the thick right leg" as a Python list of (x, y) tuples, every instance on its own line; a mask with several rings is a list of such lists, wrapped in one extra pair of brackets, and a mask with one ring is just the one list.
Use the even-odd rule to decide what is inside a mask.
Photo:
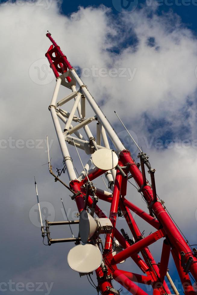
[(186, 275), (185, 272), (183, 272), (183, 268), (180, 263), (180, 255), (175, 252), (176, 250), (171, 250), (172, 257), (174, 259), (175, 265), (177, 267), (177, 271), (181, 280), (181, 283), (183, 285), (183, 289), (186, 295), (195, 295), (195, 291), (192, 287), (192, 283), (190, 281), (189, 275)]

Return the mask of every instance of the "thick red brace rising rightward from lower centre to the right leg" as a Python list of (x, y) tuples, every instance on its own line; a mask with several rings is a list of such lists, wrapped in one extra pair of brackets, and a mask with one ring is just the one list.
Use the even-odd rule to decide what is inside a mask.
[(129, 248), (123, 250), (122, 252), (116, 254), (111, 263), (112, 264), (117, 264), (120, 263), (121, 261), (127, 259), (131, 255), (141, 251), (145, 247), (148, 247), (149, 245), (153, 244), (157, 240), (161, 239), (164, 237), (164, 234), (162, 233), (161, 230), (156, 231), (152, 234), (150, 234), (148, 237), (136, 242), (135, 244), (131, 245)]

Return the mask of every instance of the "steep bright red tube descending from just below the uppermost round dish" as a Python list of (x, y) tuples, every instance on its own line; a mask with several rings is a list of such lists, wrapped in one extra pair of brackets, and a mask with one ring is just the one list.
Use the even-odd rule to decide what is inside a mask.
[(111, 220), (111, 223), (113, 225), (113, 230), (111, 232), (111, 235), (106, 235), (105, 240), (105, 250), (111, 250), (113, 247), (113, 238), (114, 238), (114, 228), (116, 227), (116, 219), (117, 219), (117, 210), (118, 210), (118, 204), (120, 199), (120, 189), (121, 189), (121, 183), (122, 183), (122, 174), (119, 170), (116, 172), (116, 179), (114, 183), (114, 191), (111, 201), (111, 208), (109, 213), (109, 219)]

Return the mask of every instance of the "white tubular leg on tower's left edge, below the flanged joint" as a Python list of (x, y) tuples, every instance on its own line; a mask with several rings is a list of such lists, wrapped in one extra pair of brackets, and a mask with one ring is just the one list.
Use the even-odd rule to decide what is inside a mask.
[(71, 161), (71, 158), (70, 158), (70, 154), (69, 154), (69, 151), (67, 149), (67, 145), (65, 143), (65, 140), (64, 140), (64, 135), (62, 133), (62, 130), (61, 130), (61, 126), (60, 126), (60, 123), (59, 123), (59, 120), (58, 120), (58, 117), (57, 117), (57, 114), (56, 114), (56, 111), (55, 111), (55, 107), (51, 107), (50, 108), (50, 112), (51, 112), (51, 115), (52, 115), (52, 119), (53, 119), (53, 123), (54, 123), (54, 126), (55, 126), (55, 131), (56, 131), (56, 134), (57, 134), (57, 137), (58, 137), (58, 141), (59, 141), (59, 144), (60, 144), (60, 147), (61, 147), (61, 152), (62, 152), (62, 155), (65, 159), (65, 165), (66, 165), (66, 169), (67, 169), (67, 173), (68, 173), (68, 177), (71, 180), (73, 179), (76, 179), (76, 174), (74, 172), (74, 168), (73, 168), (73, 163)]

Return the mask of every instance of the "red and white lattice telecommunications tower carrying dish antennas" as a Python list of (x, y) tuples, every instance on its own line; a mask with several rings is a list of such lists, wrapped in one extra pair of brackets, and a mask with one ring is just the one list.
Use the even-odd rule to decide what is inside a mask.
[[(135, 163), (130, 151), (124, 147), (100, 107), (89, 93), (87, 86), (77, 75), (76, 70), (71, 66), (51, 34), (47, 33), (46, 36), (52, 42), (52, 45), (45, 55), (56, 77), (55, 91), (49, 110), (70, 180), (69, 189), (73, 192), (72, 199), (76, 201), (80, 213), (80, 221), (78, 222), (79, 236), (78, 238), (67, 239), (67, 241), (75, 241), (75, 244), (78, 244), (73, 248), (78, 250), (74, 251), (72, 249), (74, 252), (72, 253), (71, 250), (71, 253), (68, 254), (69, 265), (81, 274), (88, 274), (92, 272), (92, 268), (94, 269), (96, 264), (91, 265), (91, 261), (88, 262), (88, 259), (87, 262), (84, 262), (83, 253), (84, 251), (85, 253), (89, 252), (90, 260), (92, 259), (91, 255), (95, 255), (95, 260), (98, 260), (95, 262), (98, 263), (95, 269), (98, 280), (97, 291), (103, 295), (119, 294), (119, 291), (115, 290), (111, 284), (113, 279), (118, 281), (130, 293), (137, 295), (147, 294), (139, 287), (139, 283), (151, 285), (154, 295), (170, 294), (170, 289), (165, 281), (168, 280), (173, 293), (179, 294), (168, 273), (168, 262), (171, 253), (185, 294), (195, 294), (195, 288), (189, 275), (192, 275), (195, 281), (197, 280), (197, 251), (189, 247), (188, 242), (185, 241), (165, 210), (163, 202), (158, 199), (155, 189), (155, 170), (151, 168), (146, 154), (140, 151), (140, 165)], [(57, 102), (61, 85), (69, 88), (71, 93)], [(72, 109), (63, 110), (61, 106), (68, 101), (73, 101)], [(92, 108), (93, 116), (86, 118), (87, 103)], [(77, 115), (76, 112), (78, 112)], [(59, 120), (65, 123), (64, 130), (61, 129)], [(90, 130), (93, 124), (96, 124), (96, 139)], [(86, 136), (80, 133), (80, 129), (85, 131)], [(113, 143), (114, 150), (110, 149), (109, 139)], [(84, 153), (89, 154), (89, 161), (84, 166), (84, 170), (79, 177), (75, 174), (68, 145), (74, 149), (80, 148)], [(91, 169), (92, 163), (94, 167)], [(149, 184), (145, 176), (145, 165), (149, 169), (151, 184)], [(52, 169), (50, 172), (53, 173)], [(103, 174), (105, 174), (108, 181), (111, 193), (95, 188), (92, 184), (94, 179)], [(127, 200), (128, 178), (133, 178), (138, 185), (138, 191), (143, 195), (148, 205), (148, 213)], [(108, 216), (99, 209), (99, 200), (111, 204)], [(123, 214), (133, 239), (130, 239), (123, 230), (122, 234), (117, 230), (118, 211)], [(151, 225), (155, 229), (153, 233), (143, 237), (131, 211)], [(98, 218), (95, 216), (98, 216)], [(61, 224), (61, 222), (58, 224)], [(66, 222), (62, 222), (62, 224), (66, 224)], [(70, 225), (72, 222), (68, 221), (67, 224)], [(54, 223), (46, 222), (48, 243), (52, 244), (56, 241), (50, 238), (49, 225), (54, 225)], [(105, 245), (102, 244), (99, 238), (103, 233), (105, 233), (103, 236), (105, 237)], [(163, 244), (161, 260), (157, 264), (149, 250), (149, 245), (159, 239), (163, 240)], [(80, 244), (80, 241), (83, 244)], [(112, 248), (115, 244), (117, 251), (115, 251), (116, 254), (114, 255)], [(77, 257), (76, 253), (79, 254)], [(102, 257), (101, 261), (99, 260), (99, 253)], [(118, 263), (127, 258), (133, 259), (143, 272), (143, 275), (118, 269)], [(76, 261), (76, 259), (78, 260)], [(76, 265), (80, 264), (81, 268), (78, 268)]]

